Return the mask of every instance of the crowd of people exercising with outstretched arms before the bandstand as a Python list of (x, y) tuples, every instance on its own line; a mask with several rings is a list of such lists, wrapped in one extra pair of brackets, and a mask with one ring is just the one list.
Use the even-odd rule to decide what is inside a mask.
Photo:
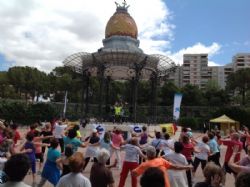
[[(221, 146), (227, 147), (225, 158), (220, 158)], [(194, 182), (199, 165), (204, 181)], [(119, 179), (113, 177), (112, 168), (120, 170)], [(129, 173), (132, 187), (138, 183), (142, 187), (220, 187), (225, 186), (227, 174), (235, 177), (236, 187), (245, 187), (250, 184), (250, 134), (244, 127), (232, 129), (226, 137), (219, 131), (194, 137), (190, 128), (182, 128), (176, 140), (165, 128), (150, 134), (143, 126), (141, 132), (131, 132), (124, 139), (118, 127), (103, 136), (94, 128), (84, 137), (80, 126), (66, 119), (54, 125), (32, 124), (22, 133), (16, 124), (0, 122), (0, 186), (28, 187), (23, 179), (29, 173), (32, 186), (38, 187), (46, 182), (57, 187), (114, 187), (115, 181), (124, 187)]]

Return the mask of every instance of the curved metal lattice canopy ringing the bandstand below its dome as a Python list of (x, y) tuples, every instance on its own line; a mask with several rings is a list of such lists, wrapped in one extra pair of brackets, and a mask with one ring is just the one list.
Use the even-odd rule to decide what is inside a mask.
[[(176, 68), (174, 61), (164, 55), (146, 55), (144, 53), (134, 53), (121, 50), (100, 51), (95, 53), (79, 52), (67, 57), (63, 61), (63, 64), (73, 68), (78, 73), (90, 70), (91, 68), (97, 68), (101, 64), (105, 64), (105, 69), (112, 69), (112, 67), (114, 69), (115, 67), (127, 67), (126, 71), (128, 71), (129, 69), (134, 70), (135, 65), (142, 61), (146, 56), (148, 58), (143, 70), (157, 72), (159, 78), (167, 76)], [(90, 73), (96, 76), (93, 72), (90, 71)], [(115, 80), (119, 79), (119, 77), (112, 78)], [(124, 78), (125, 77), (123, 77), (123, 79)], [(131, 77), (128, 76), (125, 79), (130, 78)], [(149, 79), (150, 76), (143, 76), (141, 78)]]

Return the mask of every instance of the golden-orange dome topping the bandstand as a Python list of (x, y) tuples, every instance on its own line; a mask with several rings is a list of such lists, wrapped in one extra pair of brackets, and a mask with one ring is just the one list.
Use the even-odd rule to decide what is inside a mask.
[(137, 39), (138, 30), (136, 23), (127, 12), (127, 9), (117, 8), (114, 15), (109, 19), (105, 29), (105, 38), (114, 35), (131, 36)]

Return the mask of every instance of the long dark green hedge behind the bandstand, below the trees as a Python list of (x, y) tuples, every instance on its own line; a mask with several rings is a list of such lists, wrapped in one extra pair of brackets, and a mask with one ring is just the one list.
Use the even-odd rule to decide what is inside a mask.
[[(0, 119), (20, 124), (38, 121), (50, 121), (62, 116), (63, 103), (26, 103), (18, 100), (0, 100)], [(104, 110), (103, 110), (104, 111)], [(172, 106), (157, 107), (157, 123), (172, 122)], [(103, 112), (104, 114), (104, 112)], [(250, 108), (245, 107), (182, 107), (179, 124), (192, 129), (202, 129), (205, 121), (223, 114), (237, 120), (240, 124), (250, 125)], [(98, 117), (98, 105), (89, 106), (89, 117)], [(70, 120), (80, 119), (81, 104), (68, 103), (66, 117)], [(152, 118), (149, 106), (137, 107), (137, 121), (149, 123)]]

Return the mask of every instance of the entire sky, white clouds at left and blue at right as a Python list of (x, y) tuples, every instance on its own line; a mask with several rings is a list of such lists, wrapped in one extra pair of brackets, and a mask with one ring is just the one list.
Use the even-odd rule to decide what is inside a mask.
[[(49, 72), (69, 55), (102, 47), (115, 0), (0, 0), (0, 70)], [(121, 3), (122, 0), (116, 0)], [(127, 0), (140, 48), (177, 64), (184, 53), (208, 53), (209, 64), (250, 52), (249, 0)]]

